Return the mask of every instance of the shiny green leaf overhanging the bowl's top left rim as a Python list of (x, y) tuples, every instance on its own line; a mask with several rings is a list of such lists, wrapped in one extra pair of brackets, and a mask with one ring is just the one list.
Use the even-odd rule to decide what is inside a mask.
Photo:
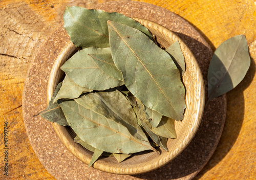
[(120, 13), (108, 13), (102, 10), (73, 6), (66, 7), (63, 19), (64, 28), (76, 47), (109, 47), (107, 20), (113, 20), (134, 27), (152, 38), (151, 33), (139, 22)]

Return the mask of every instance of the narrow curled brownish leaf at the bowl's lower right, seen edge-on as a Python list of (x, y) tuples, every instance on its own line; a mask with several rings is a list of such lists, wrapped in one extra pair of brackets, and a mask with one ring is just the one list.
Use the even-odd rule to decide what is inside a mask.
[(160, 146), (164, 150), (168, 151), (168, 148), (167, 148), (167, 138), (160, 137), (160, 136), (158, 136), (158, 134), (154, 133), (151, 130), (152, 129), (152, 125), (151, 125), (150, 122), (147, 122), (147, 120), (145, 118), (145, 113), (143, 111), (143, 106), (144, 105), (141, 103), (141, 101), (137, 100), (137, 115), (138, 115), (138, 119), (139, 119), (140, 123), (142, 124), (143, 128), (148, 133), (148, 135), (151, 137), (151, 139), (158, 146)]

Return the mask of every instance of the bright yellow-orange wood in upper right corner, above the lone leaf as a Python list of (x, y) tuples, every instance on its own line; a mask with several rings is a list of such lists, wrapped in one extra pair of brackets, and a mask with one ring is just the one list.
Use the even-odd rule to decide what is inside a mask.
[(256, 13), (254, 1), (155, 1), (140, 0), (168, 9), (199, 30), (211, 48), (217, 48), (227, 37), (244, 34), (248, 42), (256, 38)]

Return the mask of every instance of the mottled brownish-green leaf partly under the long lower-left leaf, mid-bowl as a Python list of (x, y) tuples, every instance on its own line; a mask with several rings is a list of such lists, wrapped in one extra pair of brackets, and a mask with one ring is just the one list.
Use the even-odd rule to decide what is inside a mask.
[(122, 124), (134, 137), (148, 141), (145, 133), (137, 123), (133, 107), (121, 92), (117, 90), (95, 92), (82, 95), (80, 98), (75, 99), (75, 101), (109, 120)]

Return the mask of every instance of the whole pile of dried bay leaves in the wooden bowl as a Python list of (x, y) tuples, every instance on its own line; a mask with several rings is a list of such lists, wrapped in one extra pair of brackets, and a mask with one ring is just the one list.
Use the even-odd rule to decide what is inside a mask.
[(39, 115), (74, 130), (74, 141), (94, 152), (89, 167), (100, 155), (122, 162), (156, 147), (168, 151), (186, 108), (179, 42), (163, 50), (119, 13), (67, 7), (63, 19), (80, 49), (61, 66), (65, 78)]

